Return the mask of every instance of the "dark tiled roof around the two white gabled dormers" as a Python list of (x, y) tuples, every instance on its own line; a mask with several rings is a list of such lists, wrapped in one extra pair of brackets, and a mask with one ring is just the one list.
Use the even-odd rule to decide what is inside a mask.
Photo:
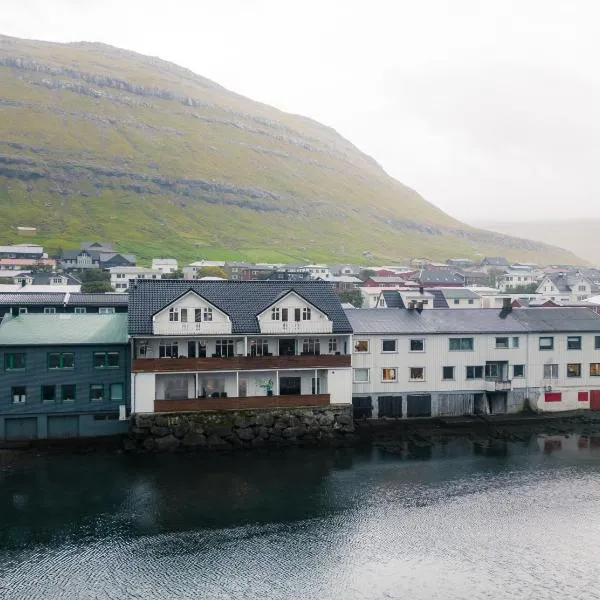
[(257, 315), (289, 291), (326, 313), (334, 333), (352, 328), (330, 283), (324, 281), (196, 281), (185, 279), (138, 279), (129, 290), (129, 333), (152, 333), (152, 315), (192, 290), (232, 321), (233, 333), (260, 333)]

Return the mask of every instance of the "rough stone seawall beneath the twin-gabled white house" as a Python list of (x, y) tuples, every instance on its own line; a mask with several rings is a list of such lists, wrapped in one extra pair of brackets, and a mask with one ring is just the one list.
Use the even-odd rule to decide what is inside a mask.
[(350, 441), (353, 434), (349, 404), (135, 414), (125, 449), (152, 452), (327, 445)]

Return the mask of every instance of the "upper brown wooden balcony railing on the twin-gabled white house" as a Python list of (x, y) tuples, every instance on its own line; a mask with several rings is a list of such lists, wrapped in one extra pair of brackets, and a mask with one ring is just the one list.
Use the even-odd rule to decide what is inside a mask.
[(334, 369), (350, 367), (349, 354), (300, 356), (231, 356), (224, 358), (137, 358), (133, 373), (183, 371), (268, 371), (272, 369)]

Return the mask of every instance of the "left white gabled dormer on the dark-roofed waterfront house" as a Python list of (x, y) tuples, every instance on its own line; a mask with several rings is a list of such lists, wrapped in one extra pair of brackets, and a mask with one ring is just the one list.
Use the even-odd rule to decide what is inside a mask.
[(223, 310), (188, 290), (152, 316), (154, 335), (231, 334), (231, 318)]

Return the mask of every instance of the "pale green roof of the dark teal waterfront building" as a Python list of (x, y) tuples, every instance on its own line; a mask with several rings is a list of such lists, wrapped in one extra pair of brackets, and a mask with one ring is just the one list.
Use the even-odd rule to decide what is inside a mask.
[(59, 313), (5, 317), (0, 324), (1, 346), (66, 344), (126, 344), (127, 314)]

